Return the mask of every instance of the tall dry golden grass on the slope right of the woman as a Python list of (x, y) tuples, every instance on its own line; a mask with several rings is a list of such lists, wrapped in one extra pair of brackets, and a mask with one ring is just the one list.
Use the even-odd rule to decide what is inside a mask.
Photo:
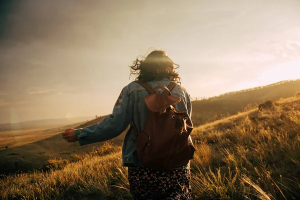
[(192, 162), (199, 199), (299, 199), (300, 103), (198, 128)]

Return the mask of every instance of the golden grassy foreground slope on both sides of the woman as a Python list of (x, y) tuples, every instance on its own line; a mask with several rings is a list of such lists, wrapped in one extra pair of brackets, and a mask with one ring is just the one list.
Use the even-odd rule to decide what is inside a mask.
[[(193, 199), (299, 199), (300, 96), (203, 124), (192, 133)], [(4, 176), (2, 199), (131, 199), (120, 147), (104, 143), (49, 170)]]

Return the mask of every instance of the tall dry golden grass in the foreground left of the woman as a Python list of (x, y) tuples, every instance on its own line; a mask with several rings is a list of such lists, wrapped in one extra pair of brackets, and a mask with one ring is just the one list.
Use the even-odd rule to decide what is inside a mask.
[(101, 147), (81, 156), (73, 155), (67, 164), (50, 159), (47, 171), (3, 176), (0, 199), (91, 199), (110, 196), (112, 191), (127, 196), (120, 146), (105, 143)]

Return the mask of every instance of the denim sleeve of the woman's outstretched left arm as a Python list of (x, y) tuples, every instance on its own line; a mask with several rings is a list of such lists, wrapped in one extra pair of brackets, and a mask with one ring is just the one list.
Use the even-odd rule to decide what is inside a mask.
[(121, 134), (132, 120), (132, 100), (128, 93), (128, 86), (125, 86), (115, 102), (112, 113), (102, 122), (75, 130), (79, 144), (105, 141)]

